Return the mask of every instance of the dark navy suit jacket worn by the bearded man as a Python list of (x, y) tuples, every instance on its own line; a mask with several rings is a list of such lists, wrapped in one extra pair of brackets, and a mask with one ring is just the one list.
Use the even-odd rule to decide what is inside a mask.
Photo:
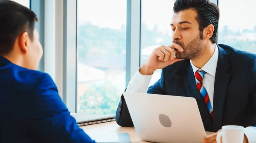
[[(148, 93), (193, 97), (196, 99), (206, 131), (217, 132), (224, 125), (256, 125), (256, 55), (218, 45), (213, 120), (209, 115), (189, 60), (162, 69), (161, 78)], [(186, 105), (184, 105), (186, 106)], [(123, 95), (116, 110), (120, 126), (133, 126)]]

